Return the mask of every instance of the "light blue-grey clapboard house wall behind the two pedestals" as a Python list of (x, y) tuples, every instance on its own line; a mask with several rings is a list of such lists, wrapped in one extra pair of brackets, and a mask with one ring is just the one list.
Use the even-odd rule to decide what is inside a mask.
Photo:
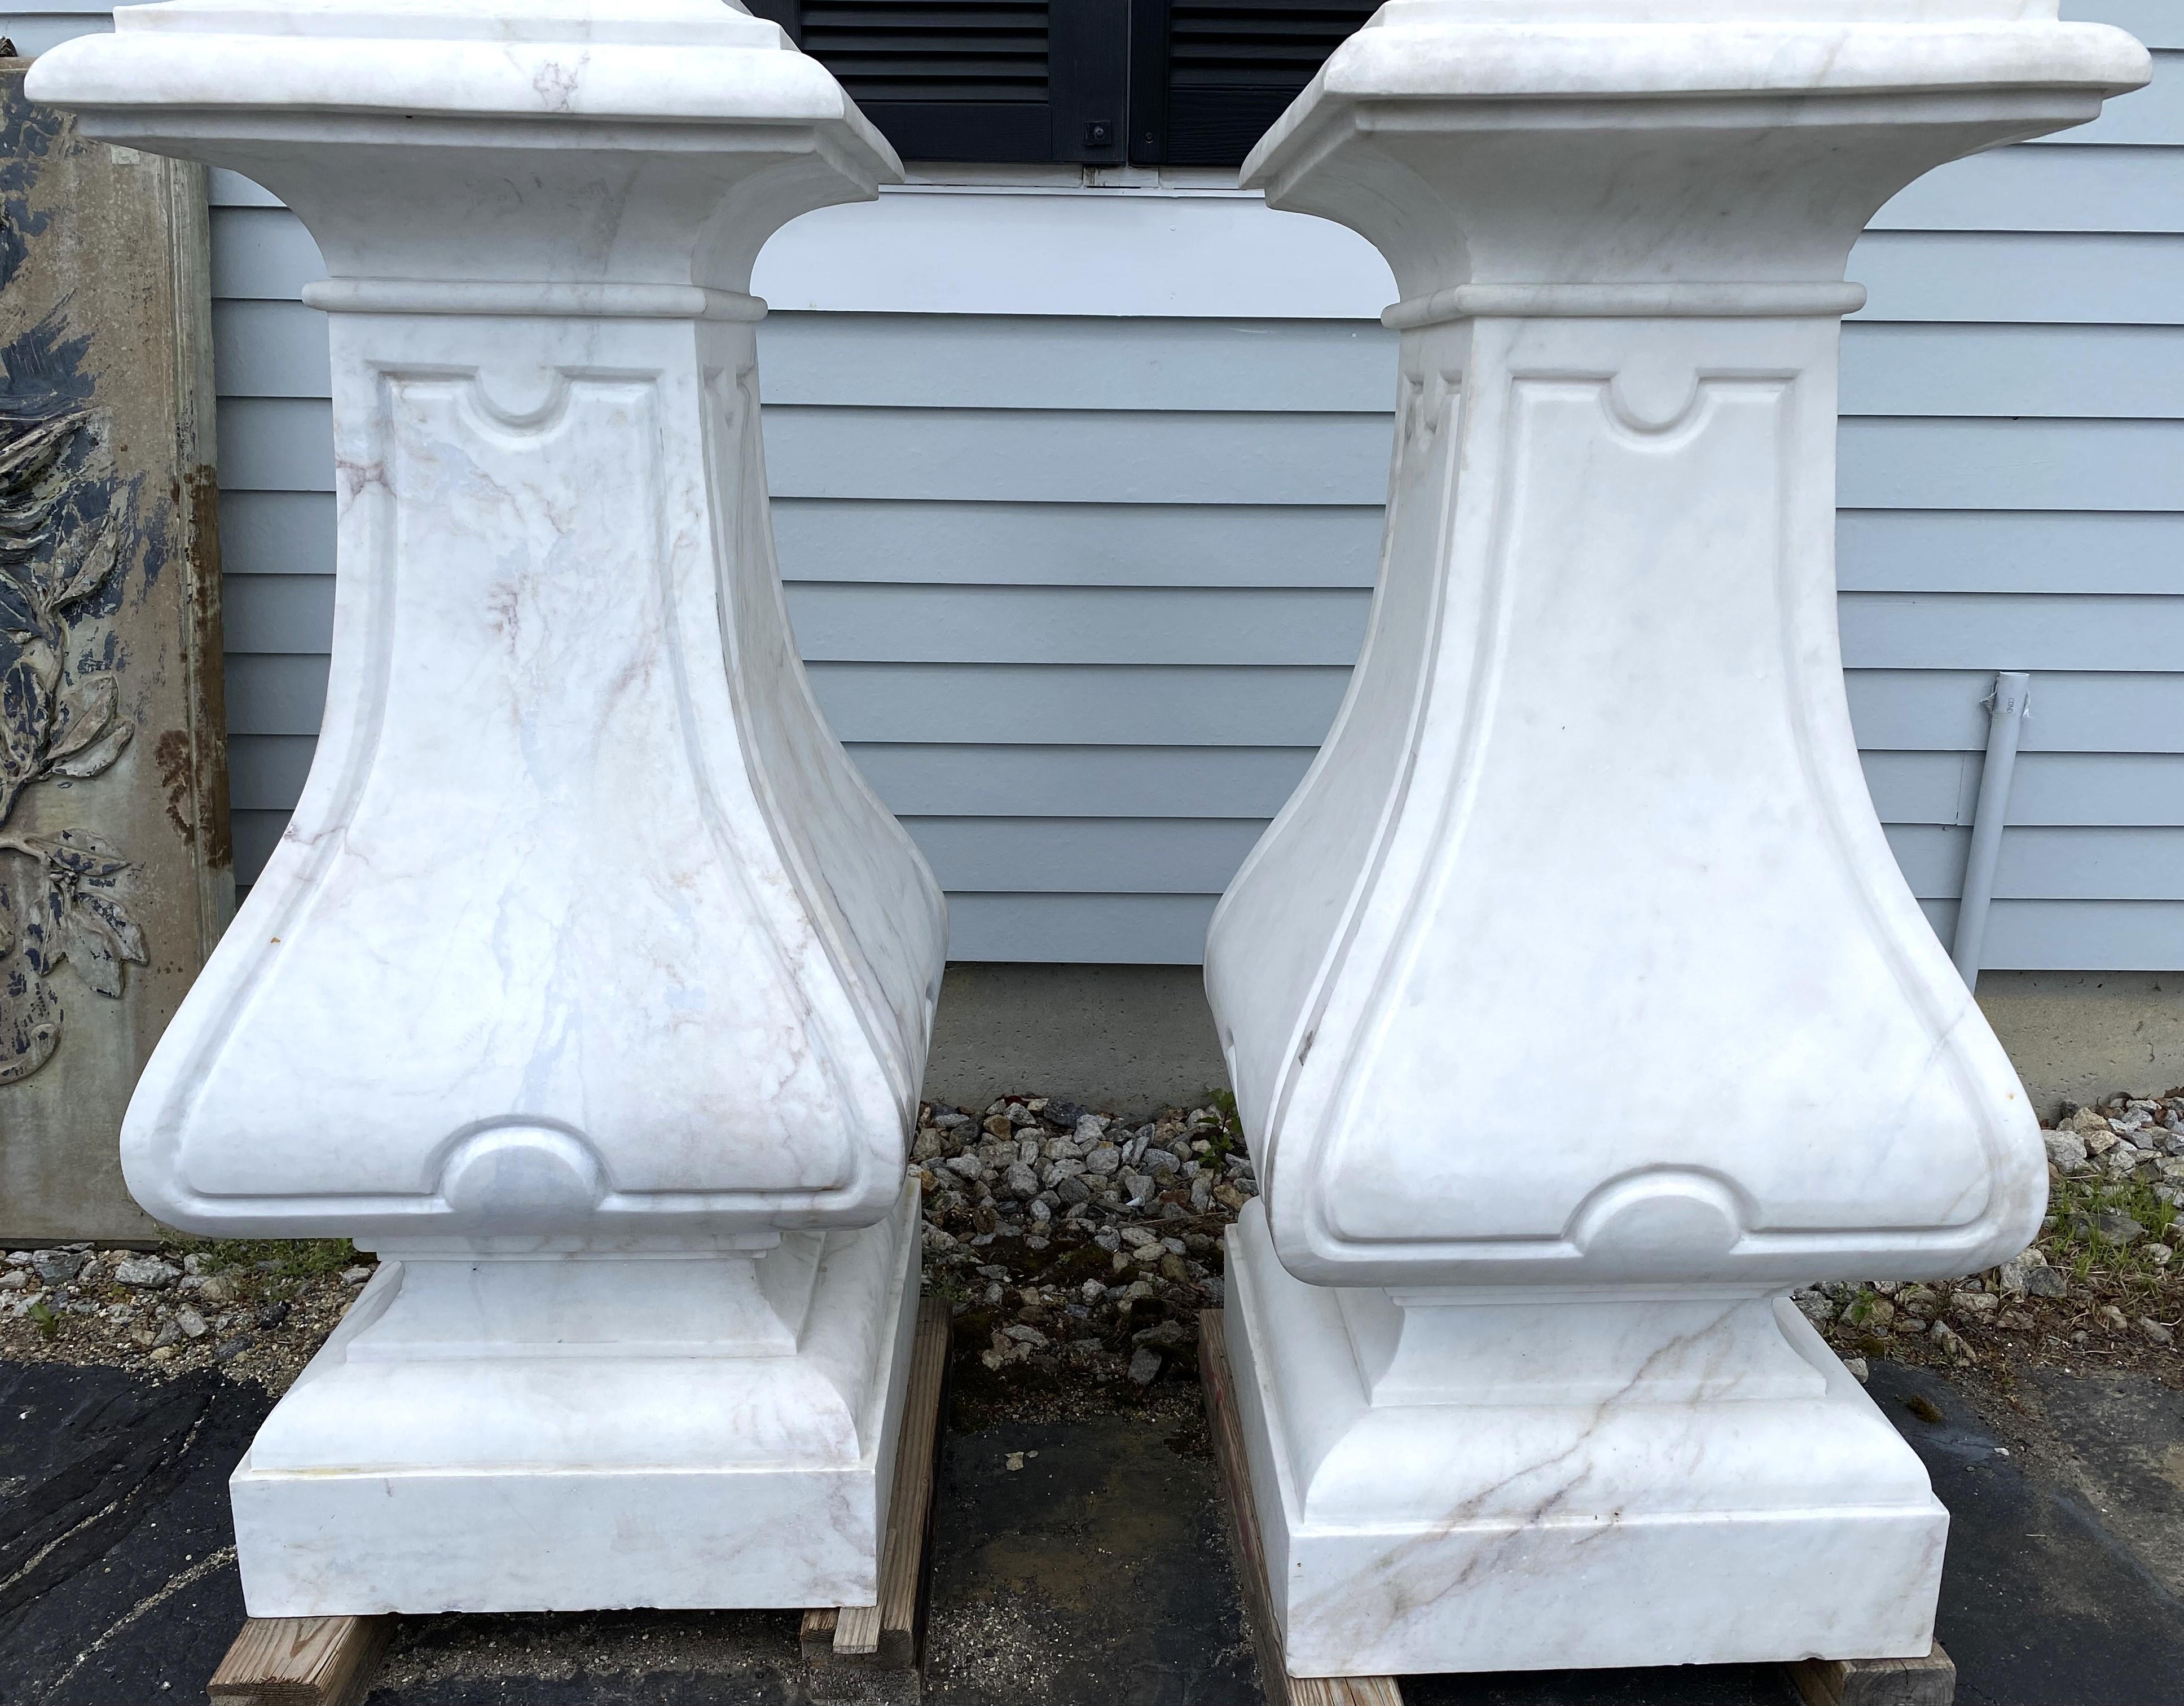
[[(96, 26), (0, 15), (35, 52)], [(2153, 87), (1948, 166), (1861, 240), (1841, 620), (1874, 802), (1955, 915), (1994, 671), (2033, 716), (1987, 963), (2184, 968), (2184, 7)], [(310, 762), (332, 607), (319, 258), (214, 181), (238, 876)], [(819, 699), (961, 961), (1199, 959), (1326, 732), (1387, 481), (1387, 269), (1214, 175), (985, 173), (760, 260), (782, 572)]]

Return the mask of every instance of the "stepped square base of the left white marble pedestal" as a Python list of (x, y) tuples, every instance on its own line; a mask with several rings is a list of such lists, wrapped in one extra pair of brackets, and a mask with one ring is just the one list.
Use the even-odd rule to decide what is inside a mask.
[(878, 1599), (917, 1188), (769, 1254), (384, 1260), (229, 1492), (251, 1616)]

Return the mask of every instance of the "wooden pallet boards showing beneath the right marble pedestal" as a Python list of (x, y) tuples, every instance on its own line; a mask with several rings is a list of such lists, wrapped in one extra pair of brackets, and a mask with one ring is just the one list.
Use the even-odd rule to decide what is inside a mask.
[[(1289, 1675), (1282, 1660), (1282, 1625), (1267, 1592), (1267, 1553), (1258, 1538), (1251, 1468), (1243, 1455), (1236, 1385), (1219, 1308), (1199, 1313), (1199, 1381), (1206, 1387), (1214, 1459), (1221, 1464), (1221, 1483), (1234, 1516), (1230, 1540), (1267, 1706), (1402, 1706), (1402, 1689), (1391, 1675)], [(1926, 1658), (1806, 1658), (1782, 1669), (1806, 1706), (1950, 1706), (1957, 1697), (1957, 1667), (1942, 1651), (1942, 1643), (1935, 1643)]]

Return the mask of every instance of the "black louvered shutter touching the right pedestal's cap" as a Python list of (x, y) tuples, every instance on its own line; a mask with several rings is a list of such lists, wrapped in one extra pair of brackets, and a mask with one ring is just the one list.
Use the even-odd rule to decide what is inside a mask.
[(1372, 0), (1131, 0), (1129, 157), (1241, 166)]

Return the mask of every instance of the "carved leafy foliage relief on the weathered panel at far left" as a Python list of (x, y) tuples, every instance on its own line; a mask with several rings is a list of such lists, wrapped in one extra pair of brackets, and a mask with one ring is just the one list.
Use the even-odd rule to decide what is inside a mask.
[(0, 1083), (61, 1040), (48, 979), (66, 959), (103, 996), (146, 963), (129, 917), (131, 861), (90, 830), (7, 830), (39, 782), (85, 782), (122, 756), (118, 657), (70, 660), (83, 618), (114, 594), (118, 481), (105, 411), (0, 419)]

